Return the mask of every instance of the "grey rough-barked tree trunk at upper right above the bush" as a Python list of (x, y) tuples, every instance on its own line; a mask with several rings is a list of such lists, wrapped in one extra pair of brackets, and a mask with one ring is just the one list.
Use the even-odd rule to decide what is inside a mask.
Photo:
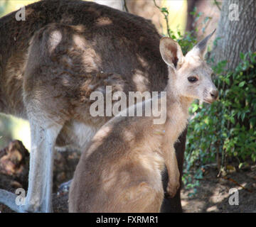
[(220, 40), (213, 50), (215, 63), (228, 60), (228, 70), (233, 70), (238, 65), (240, 52), (255, 52), (256, 1), (223, 1), (216, 37), (220, 37)]

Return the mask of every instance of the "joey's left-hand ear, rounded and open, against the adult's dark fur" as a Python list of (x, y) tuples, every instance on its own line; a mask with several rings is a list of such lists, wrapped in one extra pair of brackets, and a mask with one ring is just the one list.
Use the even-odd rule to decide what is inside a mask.
[(171, 38), (164, 37), (160, 40), (161, 57), (167, 65), (178, 70), (183, 62), (183, 53), (180, 45)]

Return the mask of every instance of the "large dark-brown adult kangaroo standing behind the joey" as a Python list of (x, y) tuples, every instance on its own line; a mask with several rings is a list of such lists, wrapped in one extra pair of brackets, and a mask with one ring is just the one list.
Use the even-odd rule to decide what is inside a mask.
[[(90, 94), (164, 90), (168, 69), (156, 28), (144, 18), (92, 2), (39, 1), (0, 19), (0, 111), (28, 119), (31, 160), (24, 205), (0, 189), (18, 212), (52, 211), (55, 145), (84, 149), (111, 116), (90, 115)], [(186, 131), (176, 143), (182, 175)], [(168, 175), (164, 177), (164, 189)], [(181, 182), (181, 177), (180, 177)], [(162, 211), (181, 211), (180, 189)]]

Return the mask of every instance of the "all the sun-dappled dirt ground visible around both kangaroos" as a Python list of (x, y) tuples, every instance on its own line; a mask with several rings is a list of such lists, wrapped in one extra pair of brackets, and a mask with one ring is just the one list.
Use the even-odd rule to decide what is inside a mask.
[[(27, 187), (28, 155), (22, 151), (18, 155), (17, 150), (21, 144), (10, 143), (7, 156), (0, 155), (0, 188), (14, 192), (16, 188)], [(22, 156), (23, 155), (23, 156)], [(65, 187), (58, 189), (62, 182), (67, 182), (73, 176), (75, 165), (78, 163), (78, 153), (58, 153), (55, 158), (53, 210), (54, 212), (68, 212), (68, 191)], [(6, 166), (11, 166), (6, 171)], [(183, 212), (256, 212), (256, 165), (250, 165), (242, 170), (228, 172), (225, 177), (216, 177), (218, 170), (209, 167), (197, 193), (190, 194), (193, 189), (182, 189), (181, 203)], [(238, 189), (238, 205), (230, 205), (229, 194), (231, 188)], [(12, 212), (6, 206), (0, 204), (0, 213)]]

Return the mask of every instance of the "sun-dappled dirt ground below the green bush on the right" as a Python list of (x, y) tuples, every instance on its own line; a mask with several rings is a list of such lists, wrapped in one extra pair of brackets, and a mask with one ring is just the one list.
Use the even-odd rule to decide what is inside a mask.
[[(181, 191), (181, 204), (186, 213), (243, 213), (256, 212), (256, 165), (245, 170), (228, 173), (225, 178), (217, 178), (218, 171), (211, 168), (201, 179), (197, 193), (190, 197), (193, 189)], [(240, 184), (241, 186), (239, 186)], [(230, 205), (233, 193), (230, 189), (238, 189), (238, 205)]]

